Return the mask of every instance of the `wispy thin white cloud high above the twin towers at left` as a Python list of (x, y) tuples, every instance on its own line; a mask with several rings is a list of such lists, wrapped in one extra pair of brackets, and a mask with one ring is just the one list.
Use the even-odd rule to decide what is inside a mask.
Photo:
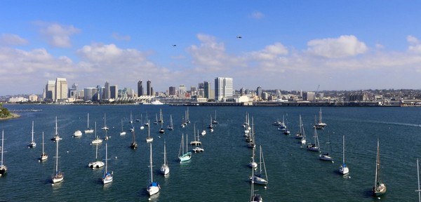
[(40, 27), (41, 34), (46, 38), (48, 44), (53, 47), (68, 48), (72, 46), (70, 36), (81, 32), (73, 25), (60, 25), (58, 23), (35, 22)]

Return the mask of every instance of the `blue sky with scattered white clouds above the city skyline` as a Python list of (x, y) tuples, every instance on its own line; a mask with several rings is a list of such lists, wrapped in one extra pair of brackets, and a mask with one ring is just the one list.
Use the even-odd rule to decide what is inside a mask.
[[(420, 89), (421, 1), (0, 1), (0, 95), (234, 88)], [(241, 36), (238, 39), (236, 36)], [(176, 45), (176, 46), (173, 46)]]

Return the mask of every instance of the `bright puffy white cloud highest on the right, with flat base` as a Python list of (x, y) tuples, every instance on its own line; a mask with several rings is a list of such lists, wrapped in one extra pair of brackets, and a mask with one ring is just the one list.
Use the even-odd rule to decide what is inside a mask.
[(343, 35), (339, 38), (314, 39), (307, 43), (307, 53), (324, 58), (347, 58), (366, 53), (365, 43), (353, 35)]

